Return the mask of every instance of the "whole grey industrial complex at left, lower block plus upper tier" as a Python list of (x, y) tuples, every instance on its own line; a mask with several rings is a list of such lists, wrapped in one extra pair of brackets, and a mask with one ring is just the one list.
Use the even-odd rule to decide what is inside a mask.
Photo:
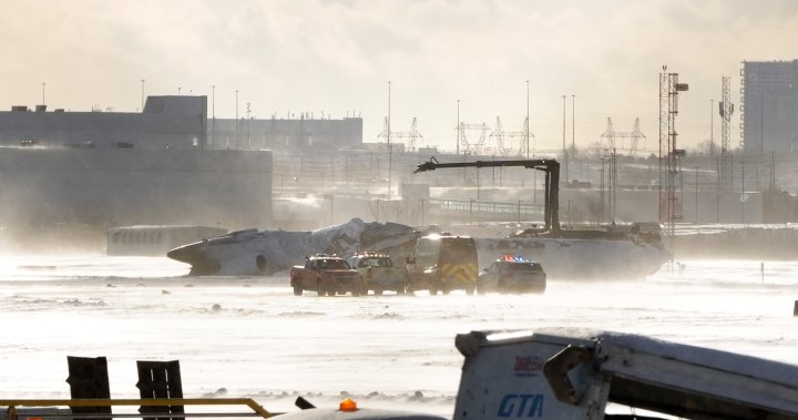
[(361, 139), (361, 119), (208, 119), (206, 96), (150, 96), (143, 112), (12, 106), (0, 112), (0, 246), (91, 243), (126, 225), (267, 227), (273, 150)]

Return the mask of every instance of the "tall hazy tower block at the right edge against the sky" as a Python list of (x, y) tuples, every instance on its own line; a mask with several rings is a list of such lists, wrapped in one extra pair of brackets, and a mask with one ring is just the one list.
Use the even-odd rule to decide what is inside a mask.
[(798, 153), (798, 60), (744, 61), (740, 143), (745, 153)]

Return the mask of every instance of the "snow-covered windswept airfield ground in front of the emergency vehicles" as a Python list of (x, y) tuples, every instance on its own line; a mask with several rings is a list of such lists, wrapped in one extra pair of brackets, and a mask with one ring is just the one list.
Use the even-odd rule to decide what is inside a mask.
[(0, 398), (69, 398), (66, 356), (109, 360), (137, 398), (136, 360), (180, 360), (186, 397), (296, 396), (451, 417), (475, 329), (583, 327), (798, 365), (798, 263), (689, 260), (643, 281), (557, 283), (529, 296), (295, 297), (288, 278), (186, 277), (167, 258), (0, 258)]

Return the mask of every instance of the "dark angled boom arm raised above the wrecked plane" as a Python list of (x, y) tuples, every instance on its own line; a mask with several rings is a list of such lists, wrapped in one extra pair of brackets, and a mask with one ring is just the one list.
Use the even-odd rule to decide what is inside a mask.
[(560, 162), (553, 158), (533, 158), (518, 161), (475, 161), (439, 163), (434, 156), (428, 162), (416, 166), (415, 174), (419, 172), (443, 170), (450, 167), (494, 167), (494, 166), (523, 166), (545, 173), (545, 209), (544, 223), (546, 231), (560, 232)]

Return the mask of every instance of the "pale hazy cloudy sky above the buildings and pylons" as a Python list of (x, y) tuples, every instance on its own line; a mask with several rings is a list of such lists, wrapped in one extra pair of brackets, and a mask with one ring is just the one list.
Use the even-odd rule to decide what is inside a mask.
[[(520, 131), (536, 150), (600, 140), (606, 117), (635, 117), (657, 148), (662, 65), (689, 83), (676, 126), (686, 147), (709, 140), (710, 100), (740, 62), (798, 59), (792, 0), (4, 0), (0, 107), (41, 103), (135, 112), (146, 94), (207, 94), (217, 117), (289, 112), (364, 117), (377, 142), (388, 114), (426, 145), (454, 150), (460, 120)], [(45, 83), (42, 89), (42, 83)], [(211, 110), (208, 110), (211, 112)], [(736, 113), (735, 116), (738, 116)], [(715, 141), (719, 119), (715, 112)], [(739, 140), (733, 121), (733, 142)], [(477, 141), (478, 133), (470, 133)]]

